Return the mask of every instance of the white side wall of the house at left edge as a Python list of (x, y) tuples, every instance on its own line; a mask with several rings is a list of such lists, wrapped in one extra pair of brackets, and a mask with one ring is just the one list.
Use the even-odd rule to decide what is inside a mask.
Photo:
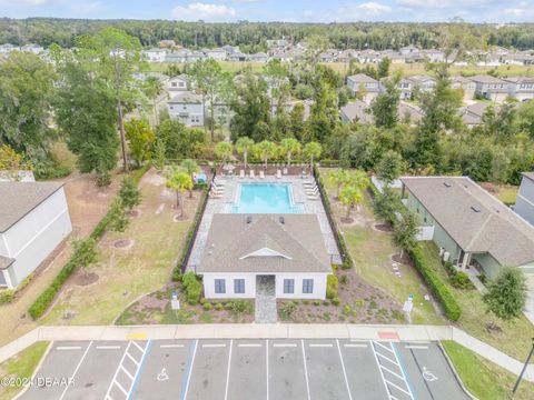
[[(63, 188), (37, 206), (6, 232), (2, 256), (16, 261), (9, 268), (12, 286), (17, 287), (72, 231)], [(3, 252), (6, 251), (6, 252)]]

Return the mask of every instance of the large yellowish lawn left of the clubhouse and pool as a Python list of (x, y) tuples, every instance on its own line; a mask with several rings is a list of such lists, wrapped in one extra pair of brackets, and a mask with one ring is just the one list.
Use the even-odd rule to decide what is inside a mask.
[[(185, 236), (192, 222), (199, 193), (186, 200), (184, 221), (175, 221), (176, 197), (165, 189), (165, 179), (154, 170), (140, 182), (140, 213), (125, 232), (107, 232), (98, 244), (98, 262), (69, 279), (57, 304), (42, 319), (44, 324), (108, 324), (139, 296), (169, 282)], [(159, 212), (158, 212), (159, 211)], [(131, 248), (118, 249), (117, 240), (130, 239)], [(82, 284), (83, 274), (98, 280)], [(65, 319), (65, 314), (73, 317)]]

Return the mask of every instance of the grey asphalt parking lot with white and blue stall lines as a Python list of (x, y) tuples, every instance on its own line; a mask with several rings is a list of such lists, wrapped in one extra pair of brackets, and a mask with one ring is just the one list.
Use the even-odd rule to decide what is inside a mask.
[(53, 342), (34, 382), (22, 399), (468, 399), (434, 342)]

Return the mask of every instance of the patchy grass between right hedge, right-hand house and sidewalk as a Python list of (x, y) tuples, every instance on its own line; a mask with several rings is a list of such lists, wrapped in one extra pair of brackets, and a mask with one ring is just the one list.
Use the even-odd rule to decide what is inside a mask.
[[(444, 282), (448, 282), (437, 247), (433, 242), (421, 242), (421, 247), (429, 264), (442, 276)], [(534, 326), (524, 316), (512, 321), (503, 321), (486, 312), (486, 306), (477, 290), (449, 288), (462, 308), (462, 317), (457, 322), (459, 328), (517, 360), (523, 360), (527, 356), (531, 338), (534, 337)], [(498, 332), (488, 330), (490, 326), (496, 326)]]

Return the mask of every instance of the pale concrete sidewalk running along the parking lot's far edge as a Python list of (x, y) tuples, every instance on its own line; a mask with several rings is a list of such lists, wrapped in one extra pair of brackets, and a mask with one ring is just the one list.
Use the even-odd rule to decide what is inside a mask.
[[(345, 323), (180, 324), (135, 327), (39, 327), (0, 349), (0, 362), (37, 341), (144, 339), (363, 339), (436, 341), (454, 340), (485, 359), (518, 374), (524, 361), (473, 338), (452, 326), (373, 326)], [(525, 349), (525, 353), (528, 349)], [(534, 364), (524, 378), (534, 382)]]

